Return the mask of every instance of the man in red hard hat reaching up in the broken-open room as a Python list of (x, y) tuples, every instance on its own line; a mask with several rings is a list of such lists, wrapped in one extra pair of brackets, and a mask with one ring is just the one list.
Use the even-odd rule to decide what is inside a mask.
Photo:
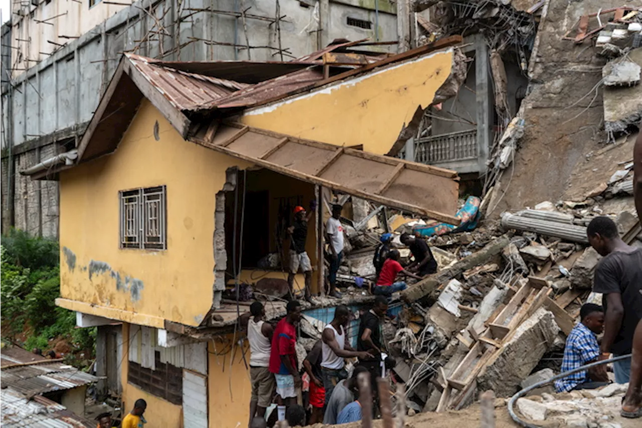
[(290, 274), (288, 275), (288, 285), (290, 285), (290, 294), (295, 296), (293, 283), (294, 277), (299, 272), (299, 268), (306, 276), (306, 300), (310, 300), (310, 287), (312, 283), (312, 263), (306, 252), (306, 239), (308, 238), (308, 221), (314, 213), (315, 205), (310, 204), (310, 213), (302, 206), (294, 208), (294, 222), (288, 227), (288, 233), (291, 237), (290, 245)]

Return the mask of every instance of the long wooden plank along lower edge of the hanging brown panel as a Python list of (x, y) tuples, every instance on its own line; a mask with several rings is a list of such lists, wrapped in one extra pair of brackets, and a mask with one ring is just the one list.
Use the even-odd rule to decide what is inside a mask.
[(221, 147), (220, 145), (207, 143), (203, 139), (191, 138), (190, 141), (193, 141), (198, 145), (211, 148), (223, 154), (227, 154), (229, 156), (236, 157), (238, 159), (243, 159), (244, 161), (248, 161), (250, 163), (254, 163), (259, 166), (263, 166), (265, 168), (268, 168), (280, 174), (288, 175), (290, 177), (294, 177), (302, 181), (307, 181), (308, 183), (319, 184), (320, 186), (325, 186), (327, 188), (336, 190), (338, 192), (354, 195), (356, 197), (360, 197), (361, 199), (368, 199), (370, 201), (379, 202), (379, 204), (384, 204), (386, 206), (392, 206), (395, 208), (400, 208), (401, 210), (411, 211), (413, 213), (419, 213), (421, 215), (425, 215), (426, 217), (434, 218), (435, 220), (445, 222), (448, 224), (458, 225), (461, 222), (460, 218), (456, 218), (454, 215), (449, 215), (449, 214), (440, 213), (438, 211), (428, 210), (427, 208), (422, 208), (420, 206), (408, 204), (406, 202), (397, 201), (396, 199), (390, 199), (387, 197), (382, 197), (380, 195), (374, 195), (373, 193), (363, 192), (362, 190), (359, 190), (356, 188), (350, 188), (343, 184), (334, 183), (333, 181), (325, 180), (320, 177), (303, 174), (299, 171), (286, 168), (285, 166), (277, 165), (275, 163), (266, 161), (265, 159), (258, 159), (257, 157), (247, 156), (245, 154), (235, 152), (234, 150), (230, 150), (227, 147)]

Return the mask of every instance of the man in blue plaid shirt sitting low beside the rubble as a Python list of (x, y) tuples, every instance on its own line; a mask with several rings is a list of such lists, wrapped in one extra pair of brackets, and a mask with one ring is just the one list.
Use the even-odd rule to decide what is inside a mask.
[[(578, 323), (566, 339), (562, 372), (598, 361), (600, 345), (597, 335), (604, 330), (604, 309), (593, 303), (586, 303), (580, 309)], [(595, 389), (609, 384), (604, 371), (596, 368), (573, 373), (555, 381), (555, 391), (568, 392), (573, 389)]]

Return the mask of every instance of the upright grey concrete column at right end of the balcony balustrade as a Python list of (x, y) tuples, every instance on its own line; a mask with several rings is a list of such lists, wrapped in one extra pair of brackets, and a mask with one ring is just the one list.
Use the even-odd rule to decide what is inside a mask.
[(475, 78), (477, 93), (477, 147), (480, 175), (486, 172), (486, 161), (490, 150), (490, 83), (489, 53), (486, 40), (481, 34), (475, 36)]

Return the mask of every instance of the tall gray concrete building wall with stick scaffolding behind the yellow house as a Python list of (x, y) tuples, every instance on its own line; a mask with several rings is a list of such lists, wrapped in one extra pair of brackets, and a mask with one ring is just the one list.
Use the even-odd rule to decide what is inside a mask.
[[(275, 17), (275, 0), (184, 0), (180, 10), (177, 0), (139, 0), (13, 78), (0, 89), (1, 229), (58, 235), (57, 182), (31, 181), (19, 172), (74, 147), (123, 51), (167, 60), (247, 60), (249, 43), (261, 47), (249, 49), (252, 60), (288, 60), (341, 37), (374, 39), (375, 27), (379, 40), (396, 39), (394, 6), (385, 0), (378, 12), (369, 1), (318, 0), (316, 7), (317, 0), (279, 3), (285, 15), (280, 42), (274, 22), (247, 18), (244, 26), (234, 13), (211, 12), (239, 11), (243, 5), (250, 8), (247, 13)], [(371, 21), (372, 28), (349, 26), (347, 17)], [(286, 49), (283, 56), (279, 46)], [(370, 49), (395, 52), (396, 46)]]

